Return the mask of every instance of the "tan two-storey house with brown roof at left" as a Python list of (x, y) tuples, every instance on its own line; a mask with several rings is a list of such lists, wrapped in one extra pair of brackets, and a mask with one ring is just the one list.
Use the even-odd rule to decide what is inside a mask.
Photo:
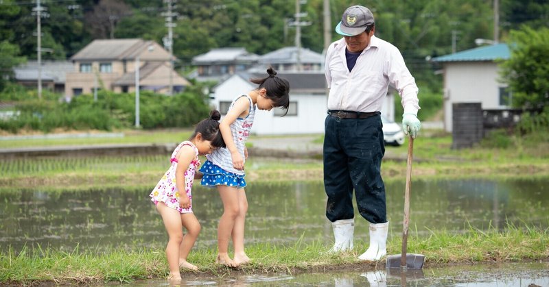
[(67, 73), (65, 82), (67, 97), (92, 93), (96, 88), (135, 92), (136, 84), (140, 90), (167, 94), (170, 86), (178, 92), (190, 85), (172, 69), (170, 53), (150, 40), (93, 40), (73, 55), (71, 61), (73, 71)]

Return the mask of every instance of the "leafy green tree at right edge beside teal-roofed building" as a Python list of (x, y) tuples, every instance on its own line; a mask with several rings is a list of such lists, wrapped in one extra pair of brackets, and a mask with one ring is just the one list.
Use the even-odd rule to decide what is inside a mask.
[(549, 28), (523, 26), (511, 31), (511, 57), (502, 62), (501, 76), (509, 84), (512, 105), (543, 108), (549, 105)]

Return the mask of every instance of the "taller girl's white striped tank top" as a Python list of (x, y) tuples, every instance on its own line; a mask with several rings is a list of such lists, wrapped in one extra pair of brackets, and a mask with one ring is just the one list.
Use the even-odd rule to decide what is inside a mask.
[[(233, 100), (229, 106), (229, 111), (235, 105), (235, 102), (241, 97), (247, 97), (250, 101), (250, 110), (248, 116), (245, 118), (237, 118), (229, 127), (231, 127), (231, 134), (233, 135), (233, 141), (235, 142), (238, 152), (242, 155), (244, 161), (244, 147), (246, 146), (246, 140), (250, 136), (250, 131), (252, 129), (253, 120), (255, 118), (255, 105), (253, 104), (252, 99), (248, 95), (241, 95)], [(244, 171), (238, 171), (233, 166), (233, 157), (231, 156), (231, 151), (226, 147), (213, 150), (212, 153), (206, 155), (206, 158), (213, 162), (213, 164), (220, 166), (220, 168), (231, 173), (236, 173), (237, 175), (244, 175)]]

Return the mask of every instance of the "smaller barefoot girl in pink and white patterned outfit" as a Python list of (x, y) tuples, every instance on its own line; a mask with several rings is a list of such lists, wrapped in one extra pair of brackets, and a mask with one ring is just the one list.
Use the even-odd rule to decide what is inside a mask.
[[(170, 279), (181, 279), (180, 268), (198, 270), (187, 262), (187, 255), (200, 233), (200, 223), (192, 210), (191, 187), (193, 179), (202, 177), (200, 172), (196, 173), (196, 168), (200, 166), (198, 155), (206, 155), (218, 147), (225, 147), (219, 132), (220, 118), (220, 112), (212, 110), (209, 118), (196, 125), (191, 138), (176, 147), (170, 159), (170, 169), (150, 194), (170, 237), (166, 247)], [(187, 234), (183, 235), (181, 226), (187, 229)]]

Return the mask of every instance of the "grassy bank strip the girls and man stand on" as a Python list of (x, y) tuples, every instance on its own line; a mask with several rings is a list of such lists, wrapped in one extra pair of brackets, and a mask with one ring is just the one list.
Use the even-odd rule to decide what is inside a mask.
[[(213, 262), (214, 249), (191, 251), (189, 261), (199, 266), (194, 276), (226, 276), (231, 273), (303, 273), (350, 270), (360, 266), (363, 271), (384, 269), (380, 262), (360, 262), (367, 245), (355, 242), (355, 249), (340, 255), (327, 254), (325, 242), (292, 246), (270, 244), (248, 245), (246, 252), (253, 262), (238, 269), (227, 269)], [(401, 239), (388, 241), (388, 254), (400, 253)], [(520, 262), (549, 260), (549, 231), (528, 227), (508, 227), (505, 232), (480, 232), (471, 229), (466, 234), (433, 232), (428, 238), (408, 239), (408, 252), (426, 256), (424, 268), (445, 264), (475, 262)], [(51, 249), (24, 249), (0, 254), (0, 284), (89, 284), (101, 282), (132, 282), (139, 279), (164, 278), (167, 262), (163, 248), (93, 253), (75, 249), (71, 252)], [(189, 274), (191, 271), (186, 271)]]

